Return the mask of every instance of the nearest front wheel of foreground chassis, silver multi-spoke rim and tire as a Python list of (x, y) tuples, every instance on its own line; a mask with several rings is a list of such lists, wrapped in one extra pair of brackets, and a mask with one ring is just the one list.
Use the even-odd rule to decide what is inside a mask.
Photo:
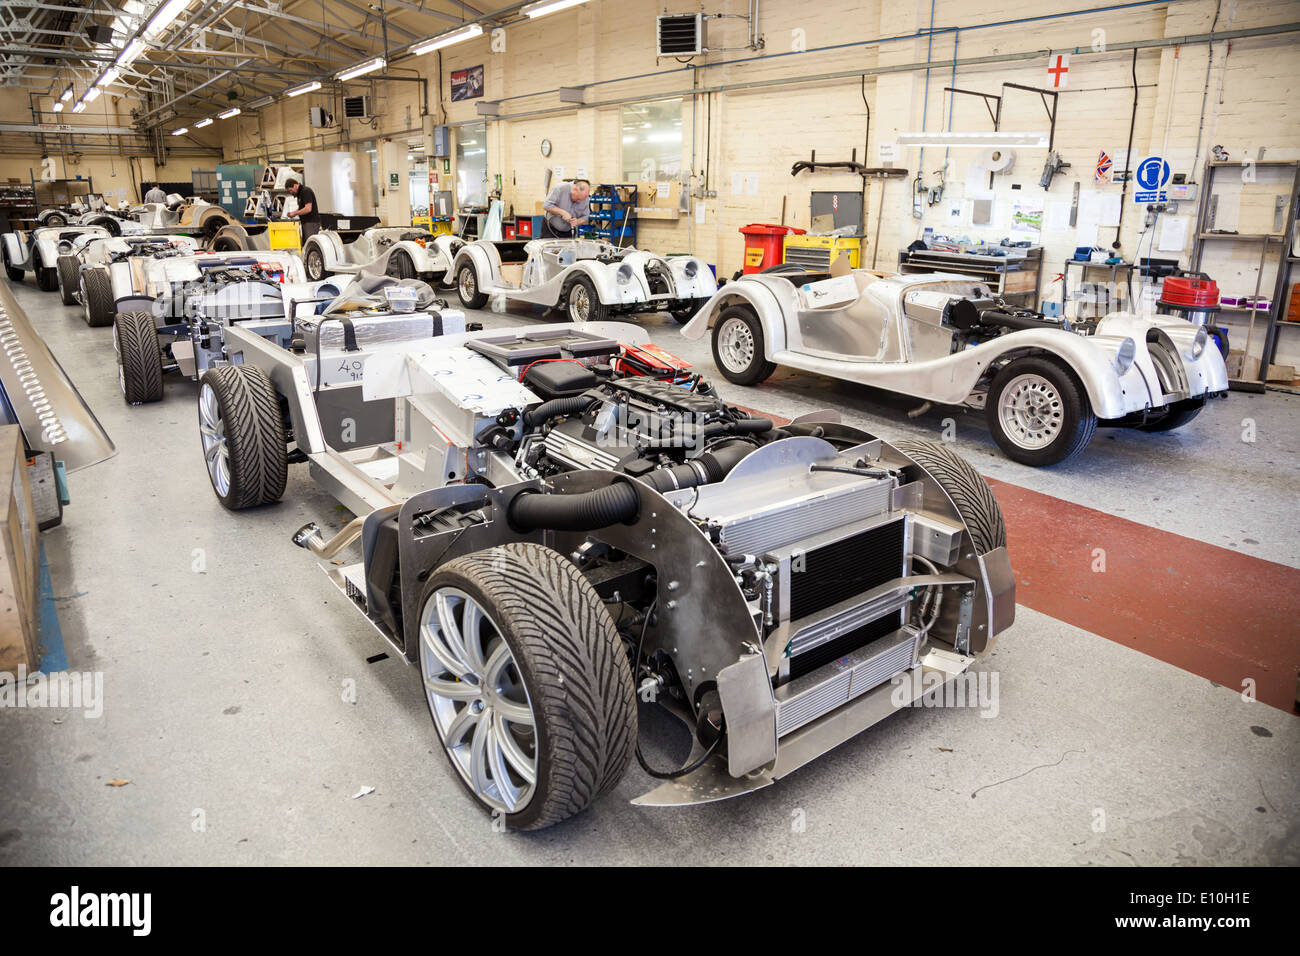
[(430, 575), (420, 676), (456, 775), (510, 827), (580, 813), (632, 761), (627, 652), (592, 584), (542, 545), (489, 548)]

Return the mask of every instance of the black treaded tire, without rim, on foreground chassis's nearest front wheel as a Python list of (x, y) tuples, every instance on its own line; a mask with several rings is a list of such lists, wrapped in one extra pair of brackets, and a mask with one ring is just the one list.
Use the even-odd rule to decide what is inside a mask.
[[(532, 706), (536, 790), (524, 806), (506, 814), (506, 825), (540, 830), (612, 790), (636, 748), (636, 695), (627, 650), (586, 578), (549, 548), (520, 542), (438, 568), (424, 587), (421, 619), (425, 604), (442, 588), (464, 592), (488, 611), (515, 658)], [(426, 665), (439, 667), (421, 628), (421, 680)], [(429, 697), (425, 693), (433, 715)], [(441, 736), (437, 719), (434, 726)], [(454, 761), (452, 767), (474, 799), (490, 806)]]

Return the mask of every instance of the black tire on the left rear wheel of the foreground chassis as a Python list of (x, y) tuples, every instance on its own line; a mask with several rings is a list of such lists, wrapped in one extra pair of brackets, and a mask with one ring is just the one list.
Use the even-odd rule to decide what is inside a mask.
[[(216, 460), (207, 455), (207, 402), (216, 406), (226, 450), (228, 486), (221, 489)], [(270, 378), (256, 365), (217, 365), (199, 382), (199, 429), (208, 477), (217, 499), (231, 511), (280, 501), (289, 480), (289, 449), (280, 398)]]

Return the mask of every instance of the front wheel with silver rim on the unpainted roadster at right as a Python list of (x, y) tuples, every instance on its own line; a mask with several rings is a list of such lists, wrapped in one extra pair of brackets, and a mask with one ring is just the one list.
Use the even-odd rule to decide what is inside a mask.
[[(1031, 398), (1041, 401), (1041, 410), (1030, 414), (1028, 424), (1014, 414), (1010, 415), (1014, 424), (1005, 424), (1000, 414), (1002, 395), (1009, 386), (1020, 389), (1023, 382), (1030, 382), (1027, 392), (1034, 393)], [(988, 390), (984, 415), (993, 440), (1004, 454), (1013, 462), (1036, 468), (1057, 464), (1079, 454), (1097, 431), (1097, 416), (1078, 377), (1056, 359), (1041, 355), (1015, 359), (1002, 367)], [(1041, 436), (1037, 433), (1037, 424), (1043, 421), (1057, 428), (1056, 437), (1046, 444), (1039, 444)], [(1008, 428), (1017, 428), (1023, 434), (1013, 434)]]

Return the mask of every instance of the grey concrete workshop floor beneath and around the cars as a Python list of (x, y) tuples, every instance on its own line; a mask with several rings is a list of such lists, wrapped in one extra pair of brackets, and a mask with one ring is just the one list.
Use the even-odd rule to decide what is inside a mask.
[[(30, 281), (14, 293), (118, 454), (72, 476), (65, 523), (46, 535), (69, 666), (103, 671), (104, 713), (0, 710), (0, 862), (1300, 862), (1300, 719), (1026, 607), (979, 665), (1000, 678), (996, 718), (902, 711), (775, 787), (697, 808), (629, 805), (653, 784), (633, 765), (572, 821), (495, 832), (439, 752), (415, 670), (367, 663), (386, 645), (290, 545), (307, 520), (348, 518), (307, 468), (278, 506), (230, 515), (199, 454), (195, 385), (173, 378), (161, 405), (127, 407), (109, 330)], [(642, 323), (711, 368), (707, 341)], [(836, 407), (885, 437), (933, 438), (952, 416), (985, 475), (1300, 566), (1294, 397), (1234, 393), (1184, 432), (1100, 432), (1035, 471), (976, 415), (909, 419), (910, 399), (784, 369), (755, 389), (719, 381), (742, 405)], [(361, 787), (374, 792), (352, 799)]]

